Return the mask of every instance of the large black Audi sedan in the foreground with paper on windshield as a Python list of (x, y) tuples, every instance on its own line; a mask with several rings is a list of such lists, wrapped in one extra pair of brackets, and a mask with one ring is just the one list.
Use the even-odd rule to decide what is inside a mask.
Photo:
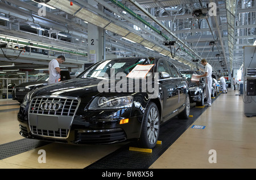
[(74, 79), (27, 93), (20, 135), (71, 144), (138, 140), (154, 148), (160, 125), (189, 116), (187, 81), (162, 58), (98, 62)]

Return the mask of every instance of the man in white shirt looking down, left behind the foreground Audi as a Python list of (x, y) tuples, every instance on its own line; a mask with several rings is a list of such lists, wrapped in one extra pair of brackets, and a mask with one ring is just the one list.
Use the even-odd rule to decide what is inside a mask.
[(48, 84), (55, 84), (59, 82), (60, 79), (60, 66), (59, 63), (63, 63), (65, 61), (64, 55), (59, 55), (56, 59), (52, 59), (49, 62), (49, 79)]

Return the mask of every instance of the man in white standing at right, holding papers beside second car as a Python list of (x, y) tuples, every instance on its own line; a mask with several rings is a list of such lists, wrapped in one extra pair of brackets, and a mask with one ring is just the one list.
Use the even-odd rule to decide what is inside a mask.
[(210, 97), (210, 92), (212, 91), (212, 66), (209, 65), (206, 59), (201, 60), (201, 64), (204, 65), (204, 74), (197, 76), (198, 78), (205, 77), (205, 95), (207, 97), (206, 106), (212, 106), (212, 98)]

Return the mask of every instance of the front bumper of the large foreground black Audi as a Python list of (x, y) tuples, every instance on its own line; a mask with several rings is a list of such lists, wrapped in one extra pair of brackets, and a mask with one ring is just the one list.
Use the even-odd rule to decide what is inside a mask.
[[(109, 144), (138, 139), (143, 118), (143, 114), (138, 114), (137, 108), (101, 110), (85, 112), (84, 115), (74, 115), (69, 120), (60, 116), (59, 122), (71, 122), (70, 127), (60, 128), (63, 127), (62, 122), (57, 126), (51, 124), (51, 119), (56, 119), (55, 115), (36, 114), (31, 121), (24, 112), (26, 110), (20, 107), (18, 113), (20, 135), (25, 138), (71, 144)], [(46, 121), (46, 125), (43, 128), (38, 128), (39, 120), (42, 121), (42, 119)], [(129, 119), (129, 122), (120, 124), (122, 119)], [(53, 128), (54, 126), (57, 128)]]

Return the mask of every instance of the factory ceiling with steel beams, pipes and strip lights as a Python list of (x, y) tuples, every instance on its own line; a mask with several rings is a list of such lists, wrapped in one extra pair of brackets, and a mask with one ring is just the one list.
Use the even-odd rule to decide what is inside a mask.
[(81, 68), (88, 63), (88, 23), (105, 30), (104, 58), (161, 56), (180, 69), (203, 69), (198, 61), (205, 58), (219, 75), (240, 69), (243, 46), (256, 38), (250, 0), (38, 2), (0, 1), (0, 44), (9, 46), (0, 63), (15, 65), (0, 71), (47, 68), (59, 54), (67, 58), (63, 67)]

